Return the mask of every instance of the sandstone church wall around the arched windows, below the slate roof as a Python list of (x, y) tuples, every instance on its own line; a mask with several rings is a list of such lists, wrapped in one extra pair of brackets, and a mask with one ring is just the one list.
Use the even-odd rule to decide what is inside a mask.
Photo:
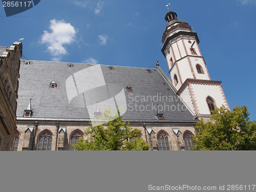
[[(71, 139), (74, 133), (79, 132), (82, 135), (90, 127), (88, 122), (76, 121), (19, 121), (17, 120), (19, 130), (19, 143), (17, 151), (39, 150), (38, 144), (41, 135), (49, 132), (52, 136), (51, 151), (69, 151), (71, 148)], [(130, 122), (131, 127), (141, 130), (141, 137), (151, 146), (150, 150), (159, 150), (158, 135), (165, 133), (168, 138), (170, 150), (185, 150), (184, 134), (195, 134), (193, 125), (195, 123), (143, 123)], [(152, 132), (149, 130), (152, 129)], [(179, 130), (178, 134), (174, 129)], [(90, 140), (90, 135), (83, 135), (85, 139)], [(161, 149), (160, 149), (161, 150)]]

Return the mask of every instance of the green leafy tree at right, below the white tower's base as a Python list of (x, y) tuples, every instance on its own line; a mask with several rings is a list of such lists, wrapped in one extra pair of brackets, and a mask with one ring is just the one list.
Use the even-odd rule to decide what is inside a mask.
[(195, 126), (193, 150), (256, 150), (256, 122), (249, 120), (247, 106), (224, 106), (212, 112), (208, 122)]

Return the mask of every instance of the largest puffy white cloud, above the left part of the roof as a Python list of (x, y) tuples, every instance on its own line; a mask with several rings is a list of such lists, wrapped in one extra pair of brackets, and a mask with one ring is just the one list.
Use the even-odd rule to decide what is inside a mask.
[(47, 51), (51, 53), (53, 60), (59, 61), (61, 57), (67, 54), (63, 45), (70, 45), (75, 41), (77, 30), (64, 20), (50, 20), (50, 32), (44, 31), (41, 36), (41, 44), (47, 45)]

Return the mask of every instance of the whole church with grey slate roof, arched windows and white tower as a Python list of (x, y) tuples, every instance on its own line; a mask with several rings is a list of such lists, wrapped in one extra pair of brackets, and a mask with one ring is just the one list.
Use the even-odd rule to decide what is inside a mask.
[[(162, 53), (170, 80), (155, 69), (41, 60), (20, 61), (14, 151), (69, 151), (104, 108), (119, 109), (150, 150), (190, 150), (194, 126), (229, 108), (211, 80), (197, 33), (169, 11)], [(161, 65), (163, 65), (161, 63)]]

